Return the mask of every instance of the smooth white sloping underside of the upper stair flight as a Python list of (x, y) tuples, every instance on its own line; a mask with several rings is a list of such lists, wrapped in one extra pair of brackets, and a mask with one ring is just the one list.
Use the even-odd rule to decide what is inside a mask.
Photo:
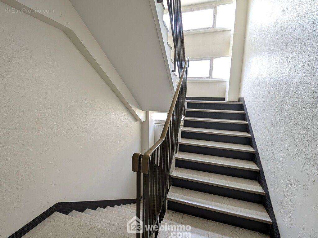
[(150, 2), (70, 1), (141, 109), (168, 111), (172, 82)]

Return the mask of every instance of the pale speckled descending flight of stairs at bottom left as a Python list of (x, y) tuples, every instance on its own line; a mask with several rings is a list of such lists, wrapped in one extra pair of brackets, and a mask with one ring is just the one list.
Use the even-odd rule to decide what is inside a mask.
[(136, 215), (136, 205), (72, 211), (68, 215), (59, 212), (42, 221), (23, 238), (127, 238), (136, 234), (127, 232), (127, 222)]

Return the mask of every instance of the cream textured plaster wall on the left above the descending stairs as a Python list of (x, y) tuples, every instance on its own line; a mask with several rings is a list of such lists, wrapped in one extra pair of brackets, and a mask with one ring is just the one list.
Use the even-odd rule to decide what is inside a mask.
[[(0, 3), (0, 237), (56, 202), (135, 197), (141, 123), (68, 37)], [(10, 9), (10, 8), (9, 8)]]

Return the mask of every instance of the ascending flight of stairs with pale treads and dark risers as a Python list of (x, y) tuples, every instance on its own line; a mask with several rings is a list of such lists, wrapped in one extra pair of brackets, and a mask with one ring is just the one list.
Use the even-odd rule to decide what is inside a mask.
[(168, 209), (268, 234), (242, 102), (187, 100)]

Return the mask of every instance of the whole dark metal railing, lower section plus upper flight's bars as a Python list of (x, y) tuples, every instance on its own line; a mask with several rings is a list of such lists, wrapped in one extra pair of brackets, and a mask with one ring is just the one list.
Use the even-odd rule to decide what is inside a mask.
[[(162, 2), (162, 0), (158, 0), (158, 2)], [(180, 79), (160, 139), (144, 155), (135, 153), (132, 157), (132, 171), (137, 173), (136, 216), (138, 219), (141, 218), (142, 208), (141, 221), (143, 223), (140, 227), (142, 232), (137, 233), (137, 238), (140, 238), (141, 235), (142, 238), (158, 235), (158, 228), (166, 213), (167, 194), (171, 186), (169, 172), (172, 159), (177, 151), (180, 123), (185, 112), (189, 58), (185, 58), (181, 2), (180, 0), (167, 0), (167, 3), (175, 55), (172, 71), (176, 71), (177, 67)], [(138, 227), (138, 221), (136, 225)], [(149, 229), (150, 227), (151, 229)]]

